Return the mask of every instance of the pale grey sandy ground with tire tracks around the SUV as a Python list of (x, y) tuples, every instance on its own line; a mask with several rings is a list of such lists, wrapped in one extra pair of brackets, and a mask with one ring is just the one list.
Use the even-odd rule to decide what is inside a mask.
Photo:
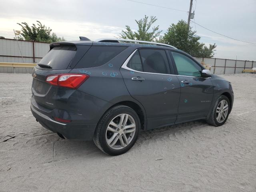
[(235, 94), (226, 124), (141, 132), (129, 152), (108, 156), (36, 122), (31, 74), (0, 74), (0, 192), (256, 192), (256, 75), (222, 76)]

